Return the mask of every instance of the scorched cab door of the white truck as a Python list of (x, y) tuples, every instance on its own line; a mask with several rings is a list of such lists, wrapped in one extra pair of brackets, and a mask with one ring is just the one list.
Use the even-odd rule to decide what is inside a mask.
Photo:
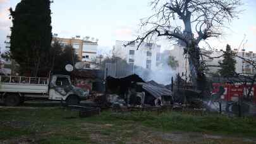
[(70, 80), (67, 77), (54, 76), (51, 81), (49, 91), (49, 99), (52, 100), (65, 100), (67, 93), (70, 92)]

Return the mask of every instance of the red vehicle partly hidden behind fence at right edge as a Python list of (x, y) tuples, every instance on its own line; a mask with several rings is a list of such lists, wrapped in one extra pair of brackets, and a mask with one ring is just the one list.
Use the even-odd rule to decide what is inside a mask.
[[(212, 93), (217, 93), (220, 86), (224, 87), (225, 90), (221, 98), (227, 101), (237, 101), (239, 97), (246, 95), (250, 88), (250, 85), (213, 83)], [(251, 95), (253, 96), (253, 102), (256, 104), (256, 85), (253, 85)]]

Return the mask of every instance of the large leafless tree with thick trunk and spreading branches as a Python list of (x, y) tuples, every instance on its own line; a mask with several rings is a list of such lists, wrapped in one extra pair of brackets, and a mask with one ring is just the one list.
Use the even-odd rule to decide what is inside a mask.
[(154, 37), (178, 40), (188, 54), (192, 81), (196, 85), (204, 80), (204, 64), (200, 62), (200, 42), (219, 37), (225, 22), (237, 17), (241, 0), (154, 0), (154, 15), (142, 20), (143, 34), (129, 42)]

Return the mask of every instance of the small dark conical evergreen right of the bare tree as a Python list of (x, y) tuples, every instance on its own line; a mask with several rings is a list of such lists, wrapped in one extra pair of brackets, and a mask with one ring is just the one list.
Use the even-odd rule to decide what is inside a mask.
[(224, 52), (224, 59), (219, 63), (221, 69), (219, 73), (223, 77), (232, 77), (236, 71), (236, 60), (233, 52), (231, 51), (230, 45), (226, 46), (226, 52)]

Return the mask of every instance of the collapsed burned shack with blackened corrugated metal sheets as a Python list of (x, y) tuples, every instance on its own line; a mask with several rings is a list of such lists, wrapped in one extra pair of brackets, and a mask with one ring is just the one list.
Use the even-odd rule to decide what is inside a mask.
[(107, 76), (106, 90), (110, 95), (119, 95), (127, 105), (161, 106), (173, 103), (171, 90), (152, 81), (147, 83), (138, 75), (124, 78)]

